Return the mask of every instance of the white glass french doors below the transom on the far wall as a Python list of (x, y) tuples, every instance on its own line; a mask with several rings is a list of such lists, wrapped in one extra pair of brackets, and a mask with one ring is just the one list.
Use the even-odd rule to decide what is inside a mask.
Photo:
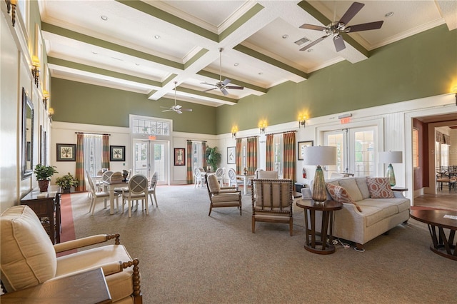
[(134, 174), (143, 174), (149, 180), (157, 172), (157, 183), (169, 181), (169, 142), (134, 139)]

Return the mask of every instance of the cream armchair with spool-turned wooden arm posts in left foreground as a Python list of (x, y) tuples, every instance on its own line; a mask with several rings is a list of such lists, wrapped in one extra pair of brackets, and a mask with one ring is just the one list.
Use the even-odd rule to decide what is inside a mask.
[[(139, 260), (132, 259), (119, 233), (92, 235), (52, 245), (34, 211), (14, 206), (1, 214), (1, 283), (7, 293), (29, 288), (54, 278), (102, 268), (113, 302), (142, 303)], [(114, 239), (114, 245), (81, 250)], [(57, 257), (56, 253), (78, 249)], [(133, 266), (133, 267), (132, 267)]]

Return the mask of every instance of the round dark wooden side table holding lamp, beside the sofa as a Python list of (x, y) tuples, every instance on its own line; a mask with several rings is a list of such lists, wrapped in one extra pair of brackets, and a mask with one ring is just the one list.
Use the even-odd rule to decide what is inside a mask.
[[(334, 253), (335, 246), (332, 244), (333, 211), (341, 210), (343, 208), (343, 204), (331, 200), (324, 201), (323, 203), (316, 203), (311, 199), (301, 199), (297, 201), (296, 204), (298, 207), (303, 208), (305, 211), (305, 249), (311, 253), (317, 254)], [(320, 240), (316, 240), (316, 211), (322, 212)], [(328, 229), (329, 226), (330, 228)]]

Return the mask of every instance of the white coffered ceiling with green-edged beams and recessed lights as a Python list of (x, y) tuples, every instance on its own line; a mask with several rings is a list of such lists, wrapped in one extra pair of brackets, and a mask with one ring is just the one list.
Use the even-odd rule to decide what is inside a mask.
[[(332, 39), (314, 41), (353, 1), (135, 1), (42, 0), (41, 30), (51, 76), (209, 106), (236, 104), (285, 81), (339, 61), (369, 60), (369, 51), (441, 24), (457, 28), (457, 1), (359, 1), (349, 24), (384, 21), (381, 29), (345, 34), (346, 49)], [(386, 17), (392, 12), (393, 15)], [(221, 53), (219, 49), (223, 49)], [(224, 96), (206, 83), (231, 79)]]

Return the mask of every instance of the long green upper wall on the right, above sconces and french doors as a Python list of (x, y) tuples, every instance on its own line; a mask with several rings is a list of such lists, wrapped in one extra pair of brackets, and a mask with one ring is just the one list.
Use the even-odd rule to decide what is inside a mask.
[(457, 83), (457, 30), (446, 25), (371, 51), (369, 59), (342, 61), (301, 83), (282, 83), (263, 96), (217, 108), (216, 133), (296, 121), (450, 93)]

